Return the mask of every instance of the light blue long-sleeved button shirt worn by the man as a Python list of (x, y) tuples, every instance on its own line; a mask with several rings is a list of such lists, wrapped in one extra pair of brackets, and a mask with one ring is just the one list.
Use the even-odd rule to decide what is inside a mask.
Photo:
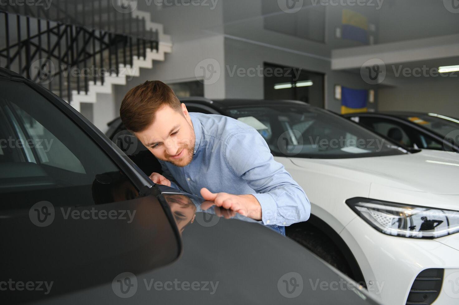
[(255, 128), (213, 114), (190, 113), (196, 135), (191, 163), (184, 167), (160, 161), (171, 187), (201, 196), (212, 193), (253, 194), (265, 225), (289, 226), (306, 221), (311, 205), (284, 166), (274, 161), (268, 144)]

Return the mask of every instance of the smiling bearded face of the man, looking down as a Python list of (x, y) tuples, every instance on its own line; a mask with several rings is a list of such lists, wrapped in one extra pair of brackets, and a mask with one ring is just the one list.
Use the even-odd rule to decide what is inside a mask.
[(183, 167), (193, 159), (196, 137), (185, 104), (180, 112), (163, 106), (154, 122), (135, 136), (159, 160)]

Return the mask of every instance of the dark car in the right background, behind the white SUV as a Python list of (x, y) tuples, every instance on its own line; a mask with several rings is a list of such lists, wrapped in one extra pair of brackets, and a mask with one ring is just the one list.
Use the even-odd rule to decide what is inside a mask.
[(405, 147), (459, 152), (459, 119), (451, 116), (394, 111), (344, 117)]

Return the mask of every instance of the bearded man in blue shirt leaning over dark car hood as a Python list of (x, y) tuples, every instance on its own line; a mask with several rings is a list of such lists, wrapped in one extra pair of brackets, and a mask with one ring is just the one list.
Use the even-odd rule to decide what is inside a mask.
[(154, 183), (201, 194), (230, 216), (239, 213), (283, 235), (284, 226), (308, 220), (308, 197), (249, 125), (189, 113), (160, 81), (129, 90), (120, 116), (160, 161), (163, 173), (151, 174)]

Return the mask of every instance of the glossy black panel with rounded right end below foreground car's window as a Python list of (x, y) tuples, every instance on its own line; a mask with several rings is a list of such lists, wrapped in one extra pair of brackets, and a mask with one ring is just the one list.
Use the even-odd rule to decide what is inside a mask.
[(179, 232), (159, 197), (89, 206), (42, 201), (30, 210), (4, 211), (2, 298), (11, 304), (38, 301), (176, 260)]

